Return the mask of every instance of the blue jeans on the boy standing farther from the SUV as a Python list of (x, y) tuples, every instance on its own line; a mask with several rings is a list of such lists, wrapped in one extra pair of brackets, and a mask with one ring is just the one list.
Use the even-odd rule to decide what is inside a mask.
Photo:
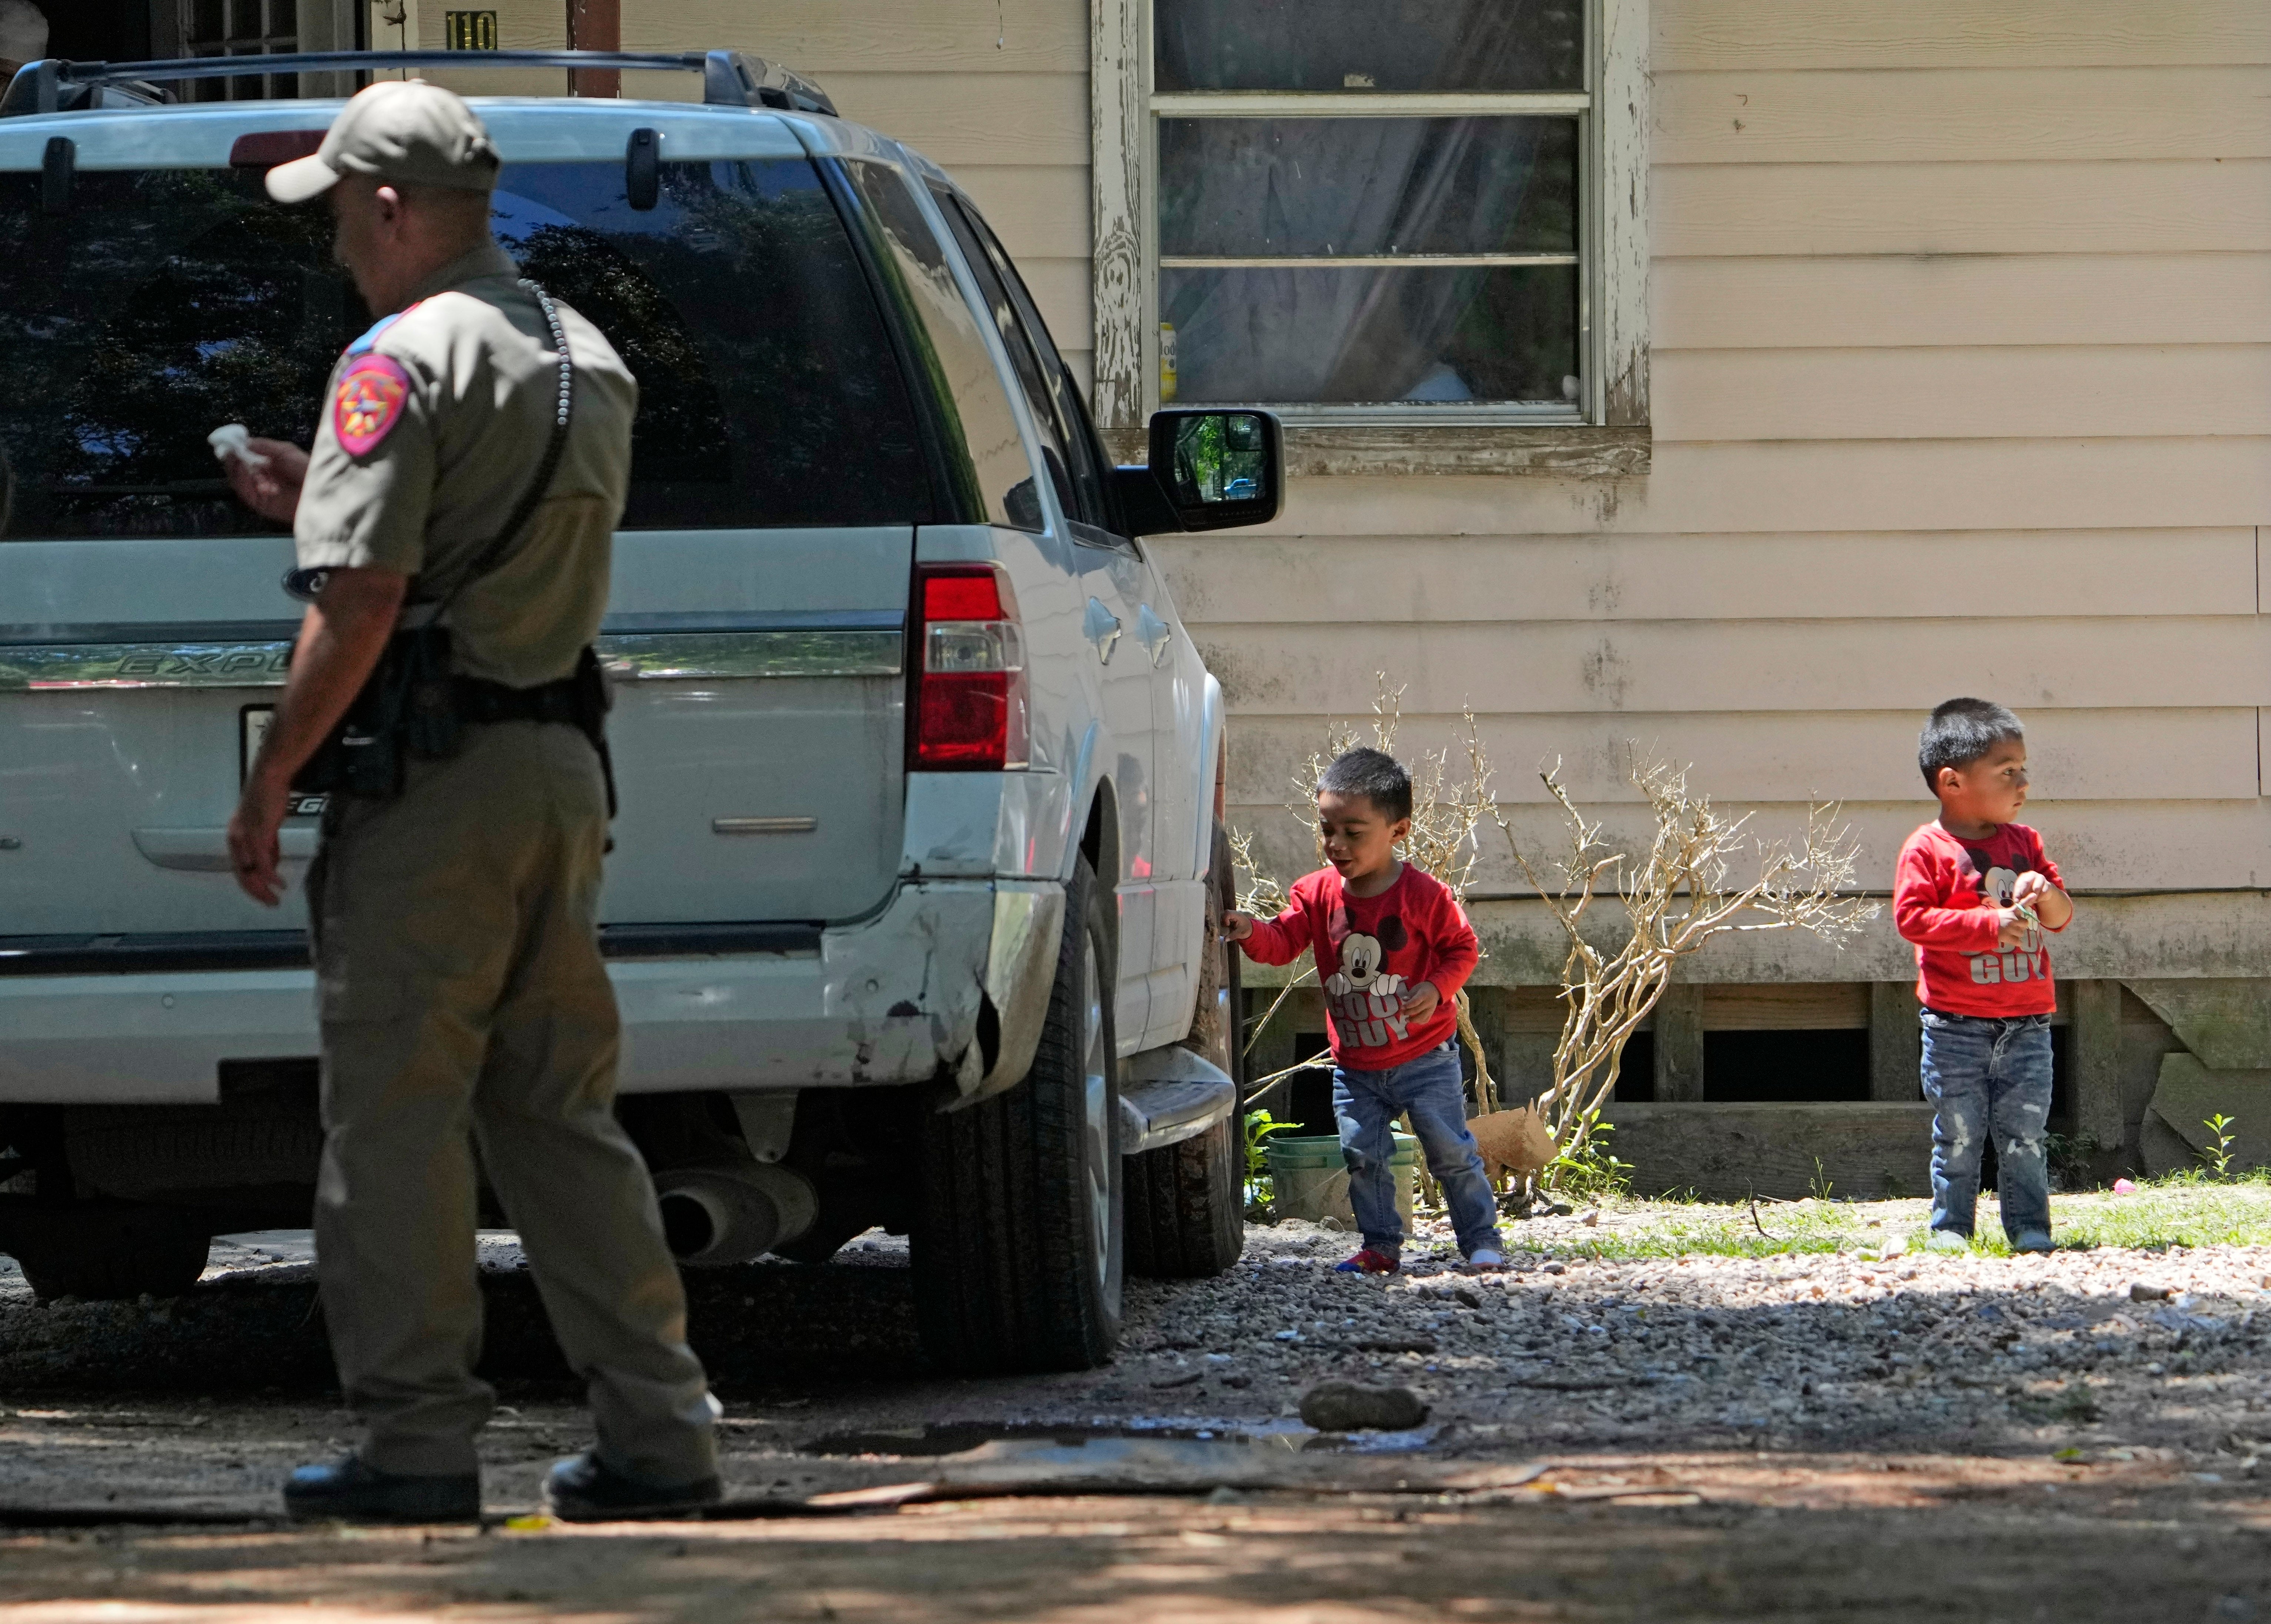
[(1942, 1015), (1924, 1011), (1924, 1097), (1933, 1102), (1933, 1229), (1971, 1233), (1980, 1152), (1994, 1133), (2003, 1233), (2051, 1231), (2048, 1015)]

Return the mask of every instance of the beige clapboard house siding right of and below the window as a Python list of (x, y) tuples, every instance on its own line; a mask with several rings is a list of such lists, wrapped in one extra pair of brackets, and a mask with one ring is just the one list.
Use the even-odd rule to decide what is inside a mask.
[[(1658, 0), (1651, 70), (1653, 472), (1306, 479), (1160, 545), (1233, 818), (1304, 865), (1285, 779), (1388, 670), (1537, 840), (1533, 765), (1628, 802), (1637, 740), (1771, 824), (1844, 797), (1885, 886), (1921, 713), (1985, 693), (2071, 884), (2271, 886), (2271, 14)], [(2192, 968), (2198, 911), (2146, 915), (2123, 972)]]

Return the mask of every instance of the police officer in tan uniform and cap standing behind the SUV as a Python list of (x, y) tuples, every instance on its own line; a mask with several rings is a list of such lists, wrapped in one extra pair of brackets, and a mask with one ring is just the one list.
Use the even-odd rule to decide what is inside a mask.
[[(654, 1186), (613, 1117), (618, 1018), (595, 936), (606, 788), (552, 702), (600, 629), (638, 384), (559, 309), (572, 413), (518, 536), (497, 527), (547, 466), (561, 357), (488, 227), (497, 154), (422, 82), (372, 84), (279, 202), (329, 193), (336, 254), (384, 320), (332, 372), (313, 452), (252, 441), (238, 495), (325, 570), (275, 725), (229, 822), (238, 884), (275, 904), (293, 775), (397, 625), (447, 604), (456, 686), (484, 704), (393, 797), (334, 793), (307, 877), (322, 1020), (316, 1186), (322, 1308), (363, 1445), (293, 1472), (295, 1517), (479, 1515), (472, 1142), (529, 1254), (597, 1449), (552, 1467), (570, 1520), (718, 1499), (718, 1406)], [(479, 720), (479, 718), (502, 720)]]

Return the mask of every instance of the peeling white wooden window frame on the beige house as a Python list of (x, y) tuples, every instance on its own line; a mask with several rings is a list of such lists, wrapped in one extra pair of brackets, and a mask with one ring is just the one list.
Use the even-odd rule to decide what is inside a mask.
[[(1122, 457), (1158, 397), (1160, 118), (1574, 116), (1578, 123), (1578, 377), (1569, 407), (1260, 404), (1285, 422), (1292, 472), (1572, 472), (1649, 461), (1646, 0), (1587, 0), (1585, 89), (1544, 93), (1183, 91), (1151, 86), (1151, 0), (1095, 0), (1090, 39), (1097, 427)], [(1217, 404), (1217, 402), (1174, 402)]]

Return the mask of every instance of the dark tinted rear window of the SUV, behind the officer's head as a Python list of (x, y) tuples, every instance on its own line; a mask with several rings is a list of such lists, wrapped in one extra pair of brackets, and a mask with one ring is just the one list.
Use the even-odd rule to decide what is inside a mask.
[[(370, 323), (318, 204), (257, 170), (82, 170), (68, 216), (0, 175), (0, 445), (9, 536), (216, 536), (263, 525), (218, 477), (223, 422), (307, 445)], [(497, 241), (640, 384), (625, 529), (908, 525), (922, 441), (843, 220), (804, 159), (504, 170)]]

